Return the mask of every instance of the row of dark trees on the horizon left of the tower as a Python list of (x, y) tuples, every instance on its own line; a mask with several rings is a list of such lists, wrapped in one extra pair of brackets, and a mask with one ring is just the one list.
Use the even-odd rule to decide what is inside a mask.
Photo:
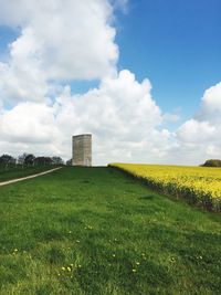
[(8, 166), (51, 166), (64, 165), (61, 157), (35, 157), (33, 154), (22, 154), (19, 157), (13, 157), (8, 154), (0, 156), (0, 165)]

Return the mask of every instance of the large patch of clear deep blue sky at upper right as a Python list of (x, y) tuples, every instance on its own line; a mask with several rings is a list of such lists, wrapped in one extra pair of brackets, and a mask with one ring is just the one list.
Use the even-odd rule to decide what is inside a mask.
[(192, 116), (221, 77), (220, 0), (136, 0), (118, 15), (119, 67), (148, 77), (165, 112)]

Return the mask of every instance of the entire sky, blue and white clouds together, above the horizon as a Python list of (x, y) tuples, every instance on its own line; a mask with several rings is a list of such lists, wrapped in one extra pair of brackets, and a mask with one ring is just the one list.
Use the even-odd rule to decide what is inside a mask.
[(0, 154), (221, 158), (220, 0), (0, 0)]

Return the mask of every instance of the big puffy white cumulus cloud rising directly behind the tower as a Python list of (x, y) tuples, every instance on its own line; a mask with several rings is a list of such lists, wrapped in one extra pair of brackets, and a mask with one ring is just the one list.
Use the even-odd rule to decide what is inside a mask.
[(97, 164), (141, 158), (147, 161), (152, 155), (158, 159), (156, 143), (162, 147), (169, 135), (158, 130), (162, 115), (150, 89), (148, 80), (138, 83), (129, 71), (103, 80), (98, 88), (82, 96), (71, 97), (66, 88), (57, 98), (57, 124), (69, 140), (73, 131), (92, 133)]

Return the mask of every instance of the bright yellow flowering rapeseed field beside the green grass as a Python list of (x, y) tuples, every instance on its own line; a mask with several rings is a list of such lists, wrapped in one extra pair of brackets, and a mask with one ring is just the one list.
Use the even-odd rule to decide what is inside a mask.
[(141, 178), (158, 191), (183, 197), (191, 203), (221, 211), (221, 168), (110, 164)]

